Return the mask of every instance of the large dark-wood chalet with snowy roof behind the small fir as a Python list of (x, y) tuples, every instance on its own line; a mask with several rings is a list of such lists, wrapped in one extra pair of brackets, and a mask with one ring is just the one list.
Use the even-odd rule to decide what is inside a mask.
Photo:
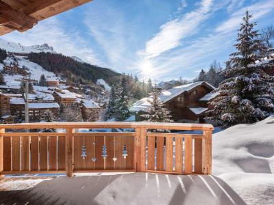
[[(214, 89), (215, 87), (209, 83), (199, 81), (163, 90), (160, 94), (160, 100), (171, 111), (175, 122), (202, 123), (205, 112), (208, 110), (207, 98), (210, 98), (210, 96), (206, 96)], [(150, 106), (149, 99), (151, 97), (142, 98), (130, 108), (131, 112), (136, 113), (136, 121), (142, 120), (140, 115), (145, 113)]]

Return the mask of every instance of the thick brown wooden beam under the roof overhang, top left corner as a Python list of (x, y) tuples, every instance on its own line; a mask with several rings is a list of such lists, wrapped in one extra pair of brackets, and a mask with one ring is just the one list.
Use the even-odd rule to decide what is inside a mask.
[(6, 23), (1, 21), (0, 26), (16, 29), (18, 31), (27, 31), (38, 23), (35, 18), (27, 16), (24, 12), (16, 10), (8, 3), (0, 0), (0, 18), (7, 20)]

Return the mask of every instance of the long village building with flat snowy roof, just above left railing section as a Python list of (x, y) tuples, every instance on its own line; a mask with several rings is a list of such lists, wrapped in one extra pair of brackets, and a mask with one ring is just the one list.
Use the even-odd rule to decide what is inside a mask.
[(57, 117), (60, 106), (57, 102), (53, 103), (29, 103), (29, 122), (40, 122), (45, 120), (45, 113), (51, 111), (53, 116)]

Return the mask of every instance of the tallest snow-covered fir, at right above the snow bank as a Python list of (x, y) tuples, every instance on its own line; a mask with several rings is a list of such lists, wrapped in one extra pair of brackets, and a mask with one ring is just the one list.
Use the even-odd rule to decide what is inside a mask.
[(236, 52), (230, 55), (231, 68), (224, 70), (225, 81), (220, 83), (219, 97), (210, 102), (209, 119), (222, 126), (253, 123), (274, 113), (274, 77), (262, 68), (271, 66), (261, 62), (262, 42), (250, 22), (247, 11), (238, 32)]

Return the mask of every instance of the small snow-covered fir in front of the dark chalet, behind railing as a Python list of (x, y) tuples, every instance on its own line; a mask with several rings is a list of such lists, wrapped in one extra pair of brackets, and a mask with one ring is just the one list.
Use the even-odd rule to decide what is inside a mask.
[(141, 117), (145, 118), (147, 122), (173, 122), (173, 120), (171, 120), (171, 112), (164, 107), (159, 96), (160, 91), (154, 86), (151, 92), (152, 99), (148, 100), (151, 106), (145, 110), (146, 113), (141, 115)]

